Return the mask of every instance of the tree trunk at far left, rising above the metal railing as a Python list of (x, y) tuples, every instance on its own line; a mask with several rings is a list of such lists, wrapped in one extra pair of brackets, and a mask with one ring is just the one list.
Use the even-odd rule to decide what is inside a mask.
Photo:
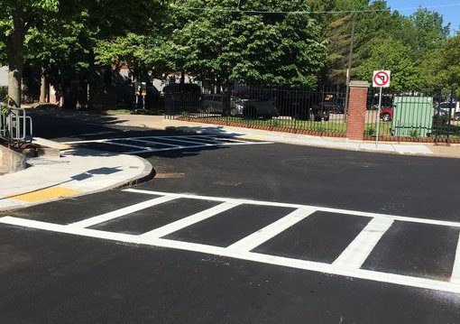
[(8, 96), (13, 106), (21, 106), (21, 89), (23, 82), (23, 49), (26, 27), (24, 7), (18, 2), (13, 14), (13, 32), (6, 44), (8, 61)]

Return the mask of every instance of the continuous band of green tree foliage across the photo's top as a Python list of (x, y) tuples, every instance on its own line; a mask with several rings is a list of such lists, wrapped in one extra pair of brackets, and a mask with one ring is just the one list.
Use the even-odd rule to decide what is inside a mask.
[(440, 14), (404, 16), (383, 0), (5, 0), (0, 12), (15, 101), (24, 63), (56, 84), (126, 66), (134, 78), (152, 70), (313, 88), (344, 85), (351, 62), (352, 78), (388, 68), (403, 91), (458, 87), (458, 53)]

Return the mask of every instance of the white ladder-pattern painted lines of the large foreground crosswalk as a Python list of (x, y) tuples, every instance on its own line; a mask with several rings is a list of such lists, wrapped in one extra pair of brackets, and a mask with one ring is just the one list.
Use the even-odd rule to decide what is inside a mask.
[[(128, 206), (126, 208), (117, 209), (103, 215), (93, 218), (83, 219), (81, 221), (71, 223), (69, 225), (58, 225), (52, 223), (45, 223), (37, 220), (3, 217), (0, 218), (1, 224), (8, 224), (17, 227), (29, 227), (46, 231), (66, 233), (76, 236), (89, 236), (97, 237), (106, 240), (121, 241), (125, 243), (133, 243), (140, 245), (155, 245), (161, 247), (168, 247), (179, 250), (193, 251), (210, 255), (221, 255), (236, 259), (258, 262), (262, 264), (274, 264), (285, 267), (303, 269), (313, 272), (330, 273), (342, 275), (347, 277), (360, 278), (375, 282), (386, 282), (399, 284), (409, 287), (417, 287), (428, 290), (442, 291), (442, 292), (455, 292), (460, 294), (459, 279), (459, 264), (460, 264), (460, 238), (458, 246), (456, 247), (455, 261), (453, 262), (453, 272), (450, 281), (435, 280), (422, 278), (413, 275), (403, 275), (398, 273), (383, 273), (374, 270), (362, 269), (364, 261), (373, 252), (373, 249), (381, 241), (382, 236), (391, 228), (395, 220), (400, 222), (431, 224), (440, 227), (455, 227), (460, 228), (460, 223), (441, 221), (436, 219), (425, 218), (406, 218), (396, 215), (376, 214), (356, 210), (347, 210), (339, 208), (324, 208), (308, 205), (280, 203), (261, 201), (253, 199), (230, 199), (220, 197), (207, 197), (198, 196), (193, 194), (178, 194), (170, 192), (159, 192), (150, 190), (124, 190), (128, 192), (138, 192), (143, 194), (152, 194), (155, 199), (149, 199), (141, 203)], [(96, 230), (88, 227), (102, 224), (108, 220), (120, 217), (129, 217), (133, 212), (137, 212), (146, 208), (172, 201), (174, 199), (198, 199), (206, 201), (219, 202), (214, 207), (207, 208), (206, 210), (199, 211), (198, 213), (180, 218), (170, 224), (158, 227), (155, 229), (146, 228), (143, 234), (132, 235), (109, 232), (104, 230)], [(228, 246), (215, 246), (205, 245), (200, 243), (192, 243), (187, 241), (179, 241), (175, 239), (165, 238), (172, 233), (179, 230), (191, 227), (198, 222), (205, 221), (209, 218), (215, 218), (217, 215), (224, 213), (241, 205), (255, 205), (255, 206), (271, 206), (271, 207), (285, 207), (294, 208), (288, 215), (273, 221), (271, 224), (260, 228), (256, 232), (237, 240)], [(254, 249), (265, 242), (268, 242), (273, 237), (280, 235), (290, 227), (295, 227), (300, 221), (309, 218), (317, 211), (329, 211), (344, 216), (361, 216), (370, 218), (369, 223), (363, 227), (363, 230), (354, 237), (354, 240), (345, 248), (341, 255), (336, 257), (336, 260), (331, 264), (322, 263), (317, 261), (308, 261), (304, 259), (297, 259), (291, 257), (284, 257), (281, 255), (271, 255), (267, 253), (253, 252)]]

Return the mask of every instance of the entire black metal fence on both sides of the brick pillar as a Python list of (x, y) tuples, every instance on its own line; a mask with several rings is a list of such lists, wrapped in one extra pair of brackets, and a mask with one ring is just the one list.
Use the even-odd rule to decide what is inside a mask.
[[(217, 125), (345, 137), (345, 87), (203, 87), (171, 83), (163, 89), (165, 115)], [(460, 103), (453, 91), (393, 94), (370, 89), (364, 140), (460, 143)]]

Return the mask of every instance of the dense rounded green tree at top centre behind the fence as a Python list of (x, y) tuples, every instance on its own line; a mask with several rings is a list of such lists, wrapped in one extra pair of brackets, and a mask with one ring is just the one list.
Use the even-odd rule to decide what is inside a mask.
[[(235, 0), (178, 2), (183, 26), (172, 33), (176, 69), (201, 79), (313, 86), (326, 60), (326, 43), (308, 14), (257, 14), (235, 10)], [(195, 11), (192, 7), (203, 7)], [(234, 11), (228, 11), (234, 10)], [(308, 11), (296, 1), (242, 2), (243, 11)]]

